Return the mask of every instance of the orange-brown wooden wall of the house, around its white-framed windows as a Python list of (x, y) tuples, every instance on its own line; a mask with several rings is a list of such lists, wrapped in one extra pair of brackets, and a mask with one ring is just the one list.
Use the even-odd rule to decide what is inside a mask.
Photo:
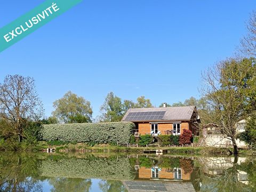
[[(165, 134), (165, 131), (172, 130), (172, 123), (157, 123), (158, 124), (158, 131), (161, 131), (161, 134)], [(181, 122), (181, 134), (183, 133), (183, 129), (189, 129), (188, 122)], [(150, 134), (151, 132), (151, 125), (149, 122), (145, 123), (138, 123), (139, 133), (143, 134)]]

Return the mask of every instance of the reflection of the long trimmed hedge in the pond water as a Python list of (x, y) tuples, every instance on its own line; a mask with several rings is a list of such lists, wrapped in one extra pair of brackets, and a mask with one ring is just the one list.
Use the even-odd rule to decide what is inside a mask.
[(129, 158), (47, 159), (39, 167), (41, 176), (54, 178), (133, 180)]

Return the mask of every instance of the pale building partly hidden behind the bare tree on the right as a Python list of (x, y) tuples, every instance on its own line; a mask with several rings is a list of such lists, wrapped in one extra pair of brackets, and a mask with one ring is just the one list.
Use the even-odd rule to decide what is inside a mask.
[[(236, 133), (241, 133), (245, 131), (246, 121), (242, 120), (236, 123)], [(231, 147), (232, 142), (230, 138), (225, 137), (218, 125), (209, 123), (203, 126), (203, 144), (210, 147)], [(236, 139), (237, 147), (247, 147), (244, 141)]]

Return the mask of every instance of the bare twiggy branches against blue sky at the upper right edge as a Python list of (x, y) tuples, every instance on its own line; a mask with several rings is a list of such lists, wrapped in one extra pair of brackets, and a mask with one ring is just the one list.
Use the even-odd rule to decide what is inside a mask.
[(253, 11), (249, 22), (247, 23), (248, 33), (241, 39), (241, 52), (249, 55), (249, 57), (256, 56), (256, 12)]

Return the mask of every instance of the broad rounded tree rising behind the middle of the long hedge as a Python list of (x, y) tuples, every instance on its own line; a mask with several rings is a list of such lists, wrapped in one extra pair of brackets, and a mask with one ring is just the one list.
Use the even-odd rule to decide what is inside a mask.
[(90, 101), (68, 91), (61, 99), (53, 102), (55, 110), (52, 116), (61, 123), (92, 122), (92, 108)]

